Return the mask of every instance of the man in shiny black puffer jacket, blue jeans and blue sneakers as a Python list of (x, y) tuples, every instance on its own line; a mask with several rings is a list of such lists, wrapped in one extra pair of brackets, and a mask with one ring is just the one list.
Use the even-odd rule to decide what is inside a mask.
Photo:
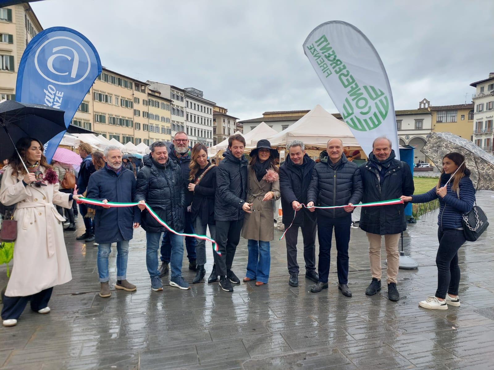
[[(154, 142), (149, 147), (151, 153), (144, 156), (144, 167), (137, 174), (135, 201), (148, 203), (153, 211), (177, 232), (184, 228), (185, 185), (180, 167), (168, 160), (166, 143)], [(158, 271), (158, 248), (165, 227), (145, 210), (142, 210), (141, 225), (146, 230), (146, 265), (151, 277), (153, 291), (162, 291), (162, 282)], [(171, 240), (171, 277), (170, 285), (180, 289), (190, 289), (182, 278), (183, 239), (168, 232)]]

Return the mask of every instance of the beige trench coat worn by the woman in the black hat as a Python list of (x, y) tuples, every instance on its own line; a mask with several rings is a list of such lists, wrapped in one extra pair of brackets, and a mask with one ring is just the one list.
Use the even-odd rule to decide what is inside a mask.
[(262, 199), (268, 191), (274, 193), (273, 200), (280, 199), (280, 181), (268, 183), (266, 180), (261, 180), (259, 183), (255, 171), (250, 166), (247, 167), (247, 173), (247, 202), (252, 203), (252, 213), (245, 215), (242, 237), (269, 242), (274, 239), (273, 201), (262, 201)]

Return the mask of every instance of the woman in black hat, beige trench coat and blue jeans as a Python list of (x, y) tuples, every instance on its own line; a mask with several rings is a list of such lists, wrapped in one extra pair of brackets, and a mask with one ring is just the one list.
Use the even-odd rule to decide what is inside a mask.
[(255, 285), (268, 282), (271, 267), (269, 242), (274, 238), (273, 200), (280, 198), (278, 168), (274, 160), (278, 151), (267, 140), (259, 140), (250, 152), (247, 167), (247, 202), (251, 212), (244, 218), (242, 236), (247, 239), (248, 261), (244, 281), (257, 280)]

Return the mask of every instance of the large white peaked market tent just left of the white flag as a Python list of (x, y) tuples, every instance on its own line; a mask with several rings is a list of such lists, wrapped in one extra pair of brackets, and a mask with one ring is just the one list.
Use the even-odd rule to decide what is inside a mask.
[[(285, 130), (267, 138), (273, 147), (287, 147), (293, 140), (301, 140), (306, 147), (326, 148), (328, 140), (338, 138), (343, 147), (358, 148), (360, 144), (345, 122), (335, 118), (319, 104)], [(255, 146), (257, 140), (251, 145)]]

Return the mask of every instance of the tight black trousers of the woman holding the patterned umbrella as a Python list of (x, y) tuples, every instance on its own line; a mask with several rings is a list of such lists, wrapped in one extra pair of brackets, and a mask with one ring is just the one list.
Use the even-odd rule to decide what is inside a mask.
[(437, 230), (439, 249), (436, 255), (437, 291), (436, 296), (446, 298), (446, 292), (458, 295), (460, 285), (460, 267), (458, 266), (458, 250), (465, 243), (463, 230)]

